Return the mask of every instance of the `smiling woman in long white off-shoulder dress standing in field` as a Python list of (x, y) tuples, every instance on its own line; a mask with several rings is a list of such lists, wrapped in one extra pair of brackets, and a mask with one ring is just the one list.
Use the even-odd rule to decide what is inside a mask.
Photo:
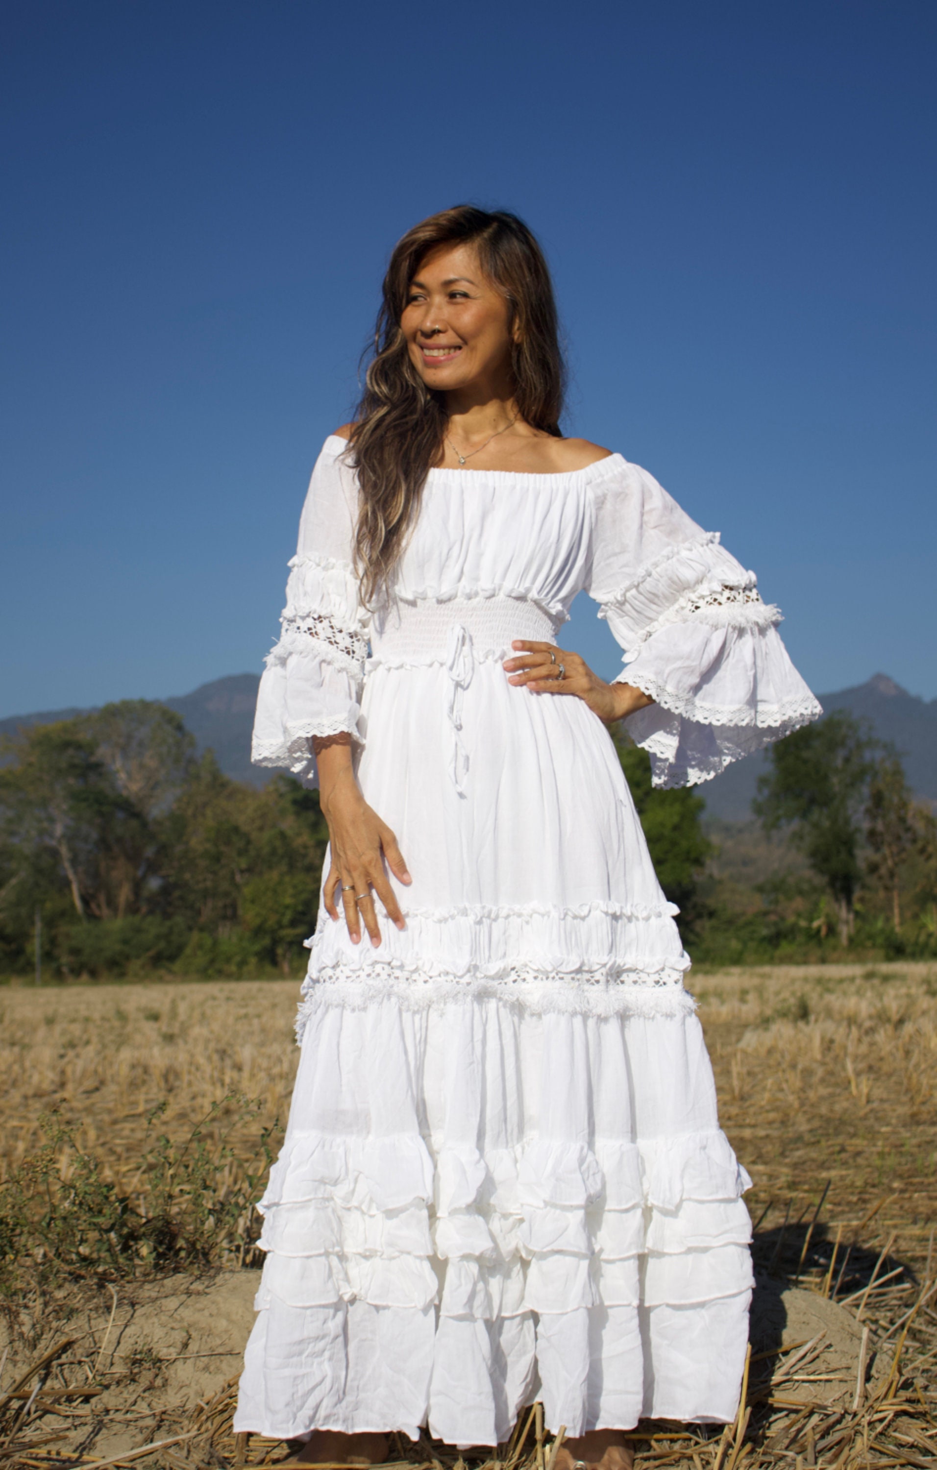
[[(737, 1408), (749, 1180), (603, 726), (681, 785), (819, 706), (752, 573), (560, 407), (521, 220), (409, 231), (254, 725), (331, 844), (235, 1429), (309, 1461), (494, 1445), (540, 1398), (557, 1470), (618, 1470), (641, 1414)], [(581, 588), (612, 684), (556, 644)]]

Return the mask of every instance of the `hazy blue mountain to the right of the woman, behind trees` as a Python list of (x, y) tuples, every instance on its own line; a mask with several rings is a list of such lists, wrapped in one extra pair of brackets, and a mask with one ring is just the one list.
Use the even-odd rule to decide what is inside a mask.
[[(937, 700), (908, 694), (887, 673), (874, 673), (866, 684), (818, 698), (824, 710), (849, 710), (868, 720), (878, 738), (891, 741), (900, 753), (912, 791), (937, 801)], [(747, 820), (758, 778), (766, 764), (763, 753), (749, 756), (700, 786), (706, 816), (722, 822)]]

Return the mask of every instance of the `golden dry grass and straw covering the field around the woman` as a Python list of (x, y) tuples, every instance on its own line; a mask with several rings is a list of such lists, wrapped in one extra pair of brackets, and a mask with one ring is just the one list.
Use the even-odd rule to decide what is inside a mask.
[[(828, 1398), (821, 1402), (819, 1391), (815, 1391), (813, 1407), (808, 1402), (805, 1408), (803, 1398), (790, 1389), (785, 1398), (778, 1382), (785, 1373), (793, 1382), (805, 1376), (810, 1364), (815, 1369), (818, 1354), (831, 1342), (813, 1342), (809, 1348), (793, 1344), (762, 1352), (760, 1358), (768, 1360), (766, 1367), (774, 1374), (771, 1379), (763, 1379), (765, 1364), (759, 1364), (756, 1354), (747, 1417), (741, 1416), (721, 1438), (706, 1438), (700, 1432), (681, 1441), (674, 1430), (652, 1426), (640, 1463), (693, 1466), (694, 1470), (738, 1470), (743, 1464), (746, 1470), (783, 1464), (791, 1470), (800, 1470), (800, 1464), (837, 1464), (843, 1470), (846, 1466), (937, 1464), (937, 1439), (933, 1438), (937, 1316), (931, 1295), (937, 1277), (933, 1248), (937, 1223), (937, 966), (721, 970), (697, 973), (691, 988), (700, 1001), (722, 1122), (755, 1180), (749, 1204), (753, 1217), (760, 1220), (756, 1263), (788, 1288), (799, 1286), (808, 1308), (819, 1298), (824, 1310), (838, 1313), (846, 1323), (846, 1314), (861, 1307), (862, 1320), (855, 1323), (850, 1316), (846, 1327), (849, 1335), (855, 1326), (856, 1344), (862, 1327), (869, 1327), (862, 1351), (871, 1377), (868, 1391), (863, 1388), (859, 1402), (852, 1404), (852, 1414)], [(37, 1154), (46, 1136), (40, 1120), (57, 1110), (79, 1148), (94, 1154), (104, 1175), (146, 1213), (150, 1179), (143, 1152), (153, 1132), (150, 1127), (147, 1133), (150, 1111), (165, 1104), (156, 1126), (169, 1138), (181, 1139), (209, 1114), (212, 1104), (241, 1094), (256, 1100), (253, 1114), (246, 1116), (229, 1105), (206, 1130), (215, 1147), (234, 1120), (229, 1155), (219, 1161), (222, 1191), (234, 1188), (238, 1179), (243, 1182), (246, 1160), (256, 1152), (260, 1127), (285, 1120), (297, 1061), (293, 1045), (296, 998), (293, 980), (0, 992), (3, 1176), (9, 1177)], [(275, 1133), (271, 1144), (277, 1144)], [(60, 1169), (74, 1167), (71, 1160), (66, 1150)], [(229, 1251), (224, 1264), (244, 1264), (243, 1248), (240, 1261)], [(866, 1288), (871, 1289), (863, 1298)], [(137, 1288), (138, 1299), (152, 1289), (143, 1282)], [(179, 1291), (178, 1283), (174, 1289)], [(128, 1289), (122, 1285), (121, 1291), (124, 1301)], [(99, 1295), (101, 1302), (94, 1310), (107, 1308), (109, 1298), (103, 1292)], [(793, 1299), (788, 1298), (788, 1313)], [(62, 1291), (49, 1292), (41, 1310), (54, 1317), (62, 1305)], [(93, 1314), (88, 1330), (93, 1338), (94, 1333), (103, 1336), (93, 1326)], [(7, 1317), (13, 1322), (16, 1313)], [(54, 1347), (56, 1335), (62, 1336), (60, 1324), (51, 1317), (35, 1320), (21, 1311), (13, 1322), (37, 1363)], [(66, 1317), (68, 1311), (62, 1322)], [(101, 1320), (106, 1319), (104, 1311)], [(836, 1336), (833, 1326), (830, 1332)], [(897, 1355), (896, 1348), (900, 1349)], [(806, 1358), (800, 1361), (805, 1351)], [(96, 1348), (99, 1372), (100, 1352)], [(793, 1355), (783, 1358), (785, 1352)], [(796, 1374), (794, 1360), (799, 1363)], [(60, 1358), (60, 1363), (72, 1360)], [(90, 1383), (90, 1360), (75, 1361), (85, 1364), (81, 1382)], [(828, 1369), (828, 1361), (821, 1360), (819, 1369)], [(234, 1367), (228, 1363), (227, 1372)], [(813, 1369), (806, 1380), (819, 1382), (824, 1373)], [(34, 1382), (44, 1383), (49, 1372), (47, 1367), (38, 1370)], [(855, 1377), (855, 1367), (850, 1372)], [(62, 1382), (68, 1379), (63, 1373), (59, 1367)], [(0, 1383), (7, 1394), (9, 1376), (4, 1373)], [(163, 1399), (165, 1389), (163, 1376)], [(68, 1392), (76, 1391), (69, 1388)], [(68, 1442), (72, 1446), (68, 1455), (65, 1448), (56, 1451), (51, 1439), (49, 1448), (43, 1448), (44, 1432), (56, 1438), (54, 1416), (43, 1417), (51, 1410), (43, 1408), (46, 1399), (35, 1395), (34, 1383), (18, 1388), (16, 1394), (19, 1398), (7, 1398), (4, 1404), (0, 1391), (0, 1424), (7, 1436), (6, 1451), (0, 1436), (0, 1461), (9, 1466), (28, 1464), (37, 1470), (38, 1466), (100, 1467), (140, 1461), (166, 1467), (274, 1464), (285, 1452), (282, 1445), (228, 1442), (229, 1385), (222, 1385), (215, 1395), (206, 1389), (207, 1396), (196, 1413), (197, 1423), (191, 1414), (188, 1420), (178, 1414), (174, 1420), (165, 1405), (159, 1413), (153, 1410), (150, 1419), (163, 1426), (162, 1433), (178, 1430), (181, 1424), (184, 1438), (174, 1446), (129, 1461), (124, 1442), (104, 1460), (100, 1441), (87, 1441), (88, 1446), (99, 1444), (94, 1452), (75, 1448), (74, 1439)], [(29, 1394), (34, 1398), (29, 1413), (24, 1414)], [(94, 1417), (90, 1408), (87, 1414)], [(28, 1426), (32, 1426), (31, 1438), (24, 1439)], [(544, 1470), (550, 1446), (535, 1444), (535, 1430), (534, 1420), (528, 1441), (518, 1442), (499, 1464), (512, 1463), (524, 1470), (530, 1461), (530, 1470)], [(152, 1435), (153, 1441), (159, 1438), (156, 1430)], [(62, 1438), (57, 1435), (59, 1441)], [(152, 1441), (137, 1439), (140, 1448), (147, 1442)], [(446, 1460), (440, 1446), (430, 1445), (422, 1446), (416, 1458), (425, 1463)]]

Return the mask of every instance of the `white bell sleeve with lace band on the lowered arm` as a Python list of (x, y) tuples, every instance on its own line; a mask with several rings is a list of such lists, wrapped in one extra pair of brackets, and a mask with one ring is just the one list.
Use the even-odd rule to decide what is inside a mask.
[(257, 691), (250, 759), (284, 766), (318, 785), (313, 735), (359, 731), (369, 619), (362, 609), (352, 547), (357, 481), (343, 440), (327, 440), (312, 472), (290, 562), (279, 641)]

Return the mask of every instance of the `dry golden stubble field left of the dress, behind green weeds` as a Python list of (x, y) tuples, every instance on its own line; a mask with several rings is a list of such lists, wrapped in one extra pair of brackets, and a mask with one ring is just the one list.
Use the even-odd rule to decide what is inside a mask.
[(159, 1126), (181, 1138), (231, 1092), (262, 1104), (237, 1138), (252, 1151), (265, 1123), (285, 1123), (297, 995), (297, 980), (0, 991), (0, 1169), (35, 1151), (40, 1119), (59, 1108), (135, 1192), (152, 1108), (165, 1102)]

